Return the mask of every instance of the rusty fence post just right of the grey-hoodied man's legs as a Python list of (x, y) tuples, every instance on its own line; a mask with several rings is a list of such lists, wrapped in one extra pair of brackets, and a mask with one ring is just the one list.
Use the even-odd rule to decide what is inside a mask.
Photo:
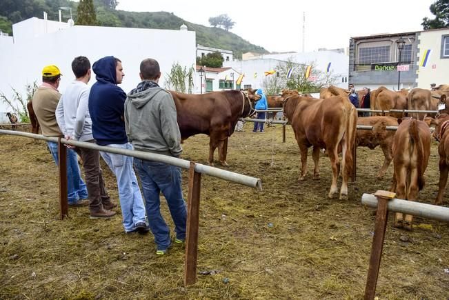
[(195, 163), (190, 162), (187, 202), (186, 261), (184, 264), (184, 286), (197, 281), (199, 197), (201, 173), (195, 172)]

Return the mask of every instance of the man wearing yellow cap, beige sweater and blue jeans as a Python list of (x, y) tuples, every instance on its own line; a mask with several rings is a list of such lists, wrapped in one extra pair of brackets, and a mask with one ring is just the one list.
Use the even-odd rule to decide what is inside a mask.
[[(58, 91), (59, 81), (61, 81), (61, 72), (57, 66), (44, 67), (42, 85), (32, 97), (32, 108), (45, 137), (63, 137), (55, 114), (61, 98)], [(54, 161), (58, 163), (58, 144), (48, 141), (47, 145)], [(72, 149), (67, 149), (67, 192), (69, 206), (87, 206), (89, 204), (88, 200), (83, 200), (88, 198), (88, 190), (86, 183), (81, 179), (77, 153)]]

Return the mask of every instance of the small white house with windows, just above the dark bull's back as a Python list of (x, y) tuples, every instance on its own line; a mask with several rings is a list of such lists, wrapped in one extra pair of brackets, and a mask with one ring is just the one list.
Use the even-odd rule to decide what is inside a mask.
[(234, 68), (207, 68), (197, 66), (195, 94), (217, 92), (220, 90), (239, 90), (236, 84), (240, 73)]

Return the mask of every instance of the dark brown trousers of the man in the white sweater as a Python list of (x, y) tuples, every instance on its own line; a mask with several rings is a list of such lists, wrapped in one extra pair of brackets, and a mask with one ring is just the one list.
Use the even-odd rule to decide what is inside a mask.
[[(88, 141), (94, 143), (95, 141)], [(110, 202), (110, 197), (104, 186), (103, 175), (100, 168), (99, 150), (77, 148), (77, 152), (83, 159), (84, 177), (89, 194), (89, 209), (98, 211), (102, 204)]]

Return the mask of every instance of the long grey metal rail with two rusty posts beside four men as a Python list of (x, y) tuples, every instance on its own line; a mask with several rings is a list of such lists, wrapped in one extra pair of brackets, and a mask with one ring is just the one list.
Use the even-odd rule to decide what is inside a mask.
[[(201, 163), (193, 163), (185, 159), (177, 159), (176, 157), (168, 157), (162, 154), (154, 154), (137, 150), (117, 149), (106, 146), (98, 146), (94, 143), (82, 141), (66, 140), (58, 137), (43, 137), (40, 134), (32, 134), (28, 132), (18, 132), (11, 130), (0, 130), (0, 134), (10, 134), (19, 137), (28, 137), (32, 139), (40, 139), (43, 141), (53, 141), (58, 143), (59, 152), (59, 202), (61, 206), (61, 219), (68, 216), (68, 200), (67, 200), (67, 174), (66, 174), (66, 147), (64, 145), (75, 146), (79, 148), (88, 148), (103, 152), (128, 155), (139, 159), (149, 161), (160, 161), (168, 163), (172, 166), (188, 169), (188, 206), (187, 206), (187, 231), (186, 231), (186, 261), (184, 264), (184, 285), (190, 285), (197, 281), (197, 254), (198, 254), (198, 232), (199, 232), (199, 199), (201, 194), (201, 174), (207, 174), (219, 179), (231, 181), (250, 186), (252, 188), (262, 189), (261, 179), (246, 176), (243, 174), (221, 170)], [(65, 179), (65, 180), (62, 180)]]

